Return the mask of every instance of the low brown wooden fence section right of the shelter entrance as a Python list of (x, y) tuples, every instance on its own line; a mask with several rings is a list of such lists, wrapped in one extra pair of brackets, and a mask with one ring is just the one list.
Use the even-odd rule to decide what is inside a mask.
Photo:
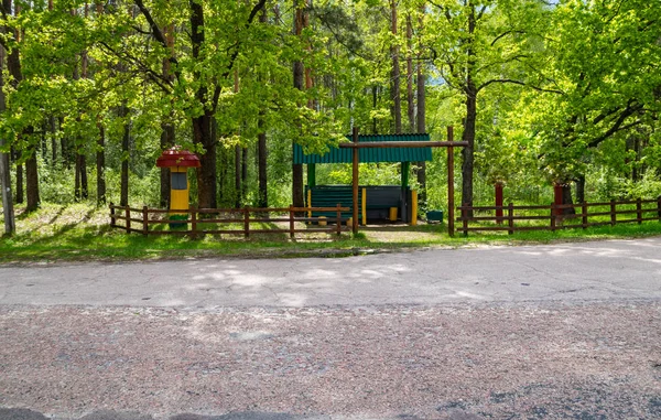
[[(562, 214), (573, 208), (575, 214)], [(559, 230), (587, 228), (590, 226), (615, 226), (622, 223), (646, 220), (661, 222), (661, 197), (658, 200), (610, 201), (606, 203), (551, 204), (548, 206), (460, 206), (457, 207), (462, 224), (457, 230), (469, 231), (507, 230), (512, 235), (523, 230)], [(473, 216), (468, 215), (473, 213)], [(487, 215), (484, 215), (484, 214)], [(476, 214), (480, 214), (479, 216)], [(479, 224), (479, 226), (476, 226)]]

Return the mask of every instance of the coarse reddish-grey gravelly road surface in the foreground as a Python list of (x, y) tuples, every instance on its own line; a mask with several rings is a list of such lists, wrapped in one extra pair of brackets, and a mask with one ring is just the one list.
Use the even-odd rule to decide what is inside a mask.
[(57, 419), (661, 418), (659, 301), (0, 306), (0, 407)]

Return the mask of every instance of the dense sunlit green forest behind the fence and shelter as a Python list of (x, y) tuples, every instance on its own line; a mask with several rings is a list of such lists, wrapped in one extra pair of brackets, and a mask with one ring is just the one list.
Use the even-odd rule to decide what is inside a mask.
[[(661, 3), (649, 0), (2, 0), (3, 207), (166, 207), (155, 160), (201, 159), (201, 208), (304, 205), (292, 147), (446, 140), (456, 202), (661, 195)], [(443, 150), (412, 165), (447, 203)], [(460, 166), (460, 168), (459, 168)], [(361, 164), (398, 184), (399, 164)], [(317, 182), (350, 183), (350, 165)], [(10, 186), (9, 189), (7, 186)], [(13, 208), (13, 207), (12, 207)]]

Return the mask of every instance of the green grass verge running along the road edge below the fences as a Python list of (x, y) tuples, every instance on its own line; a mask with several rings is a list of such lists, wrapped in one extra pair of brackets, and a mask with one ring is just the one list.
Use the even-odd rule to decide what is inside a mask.
[[(1, 214), (1, 212), (0, 212)], [(199, 257), (301, 257), (345, 256), (370, 250), (397, 250), (421, 247), (465, 247), (477, 245), (549, 244), (661, 235), (661, 223), (624, 224), (588, 229), (529, 231), (507, 235), (457, 234), (447, 236), (445, 224), (361, 228), (358, 235), (344, 233), (210, 236), (193, 239), (186, 236), (127, 235), (110, 228), (107, 208), (89, 204), (44, 204), (34, 213), (17, 208), (17, 234), (0, 238), (0, 263), (54, 260), (136, 260)], [(0, 226), (3, 222), (0, 217)]]

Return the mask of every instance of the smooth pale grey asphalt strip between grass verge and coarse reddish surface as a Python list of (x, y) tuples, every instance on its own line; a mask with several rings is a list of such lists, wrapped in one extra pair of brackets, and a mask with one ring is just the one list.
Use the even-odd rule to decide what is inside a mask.
[(354, 258), (0, 266), (0, 304), (316, 306), (661, 298), (661, 238)]

